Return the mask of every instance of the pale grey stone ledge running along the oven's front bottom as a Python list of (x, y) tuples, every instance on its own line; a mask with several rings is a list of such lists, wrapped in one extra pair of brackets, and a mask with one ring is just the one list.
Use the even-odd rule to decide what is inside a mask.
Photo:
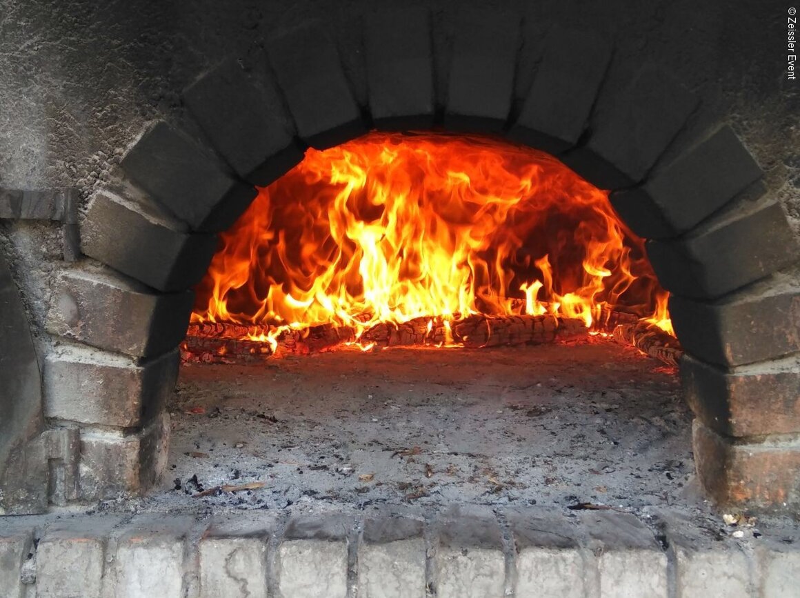
[[(715, 596), (721, 588), (732, 598), (750, 596), (742, 588), (746, 592), (760, 589), (764, 596), (791, 596), (786, 592), (794, 592), (800, 571), (796, 528), (759, 526), (763, 536), (748, 534), (749, 540), (735, 540), (710, 537), (706, 527), (698, 528), (680, 509), (657, 509), (645, 516), (647, 525), (645, 520), (612, 510), (507, 509), (504, 514), (516, 540), (514, 548), (497, 544), (498, 536), (491, 531), (497, 521), (490, 514), (494, 516), (490, 510), (466, 507), (428, 521), (434, 545), (439, 540), (439, 551), (456, 549), (459, 559), (472, 563), (485, 561), (482, 551), (499, 553), (499, 561), (486, 561), (495, 563), (490, 568), (463, 570), (458, 596), (502, 596), (505, 564), (514, 560), (518, 575), (508, 587), (515, 596), (666, 596), (668, 576), (675, 596), (698, 592)], [(365, 583), (364, 570), (358, 569), (361, 579), (351, 582), (372, 588), (363, 589), (359, 596), (422, 598), (425, 583), (441, 582), (426, 576), (426, 544), (419, 541), (421, 522), (396, 518), (397, 525), (387, 524), (385, 517), (380, 523), (370, 524), (371, 517), (365, 521), (371, 540), (355, 547), (357, 560), (386, 568), (370, 568), (371, 585)], [(210, 521), (197, 514), (166, 513), (142, 514), (132, 520), (69, 514), (0, 518), (0, 589), (3, 596), (18, 596), (22, 588), (38, 596), (72, 596), (77, 594), (70, 588), (79, 588), (79, 595), (92, 598), (182, 596), (182, 592), (253, 598), (270, 596), (267, 588), (300, 598), (346, 596), (347, 555), (341, 545), (346, 540), (341, 531), (349, 530), (354, 520), (331, 512), (298, 519), (303, 521), (292, 525), (291, 537), (286, 538), (276, 516), (264, 512), (230, 513)], [(314, 526), (313, 519), (328, 523)], [(470, 532), (472, 524), (477, 524), (478, 533)], [(662, 534), (666, 548), (656, 542), (652, 528)], [(784, 537), (788, 543), (781, 541)], [(40, 539), (38, 548), (34, 538)], [(376, 555), (370, 551), (376, 548), (390, 552), (374, 560)], [(402, 552), (395, 551), (399, 548)], [(294, 560), (295, 555), (300, 560)], [(296, 579), (281, 579), (284, 571), (266, 567), (267, 561), (282, 556), (291, 557), (282, 564), (294, 568)], [(671, 568), (666, 565), (667, 556)], [(398, 576), (401, 565), (409, 563), (413, 568), (402, 570), (409, 576)], [(331, 564), (335, 567), (330, 568)], [(290, 580), (297, 583), (287, 585)], [(400, 589), (398, 580), (413, 580), (413, 586)], [(487, 587), (501, 592), (487, 594)], [(438, 596), (454, 595), (447, 584), (434, 588)], [(548, 588), (563, 591), (553, 593)]]

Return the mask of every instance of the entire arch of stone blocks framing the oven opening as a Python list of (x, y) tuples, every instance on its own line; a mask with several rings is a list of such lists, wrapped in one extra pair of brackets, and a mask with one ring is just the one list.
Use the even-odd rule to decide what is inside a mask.
[[(150, 126), (122, 160), (119, 182), (94, 192), (82, 251), (110, 270), (83, 264), (63, 275), (48, 329), (77, 343), (45, 364), (45, 415), (87, 427), (81, 496), (146, 489), (158, 476), (188, 289), (253, 186), (293, 167), (306, 146), (325, 149), (370, 128), (441, 127), (548, 151), (612, 190), (673, 295), (702, 485), (722, 504), (797, 507), (800, 446), (787, 435), (800, 432), (800, 290), (778, 273), (797, 246), (730, 127), (677, 141), (694, 96), (652, 66), (624, 87), (604, 85), (613, 47), (585, 31), (551, 30), (518, 104), (516, 14), (460, 15), (446, 73), (434, 68), (425, 9), (367, 15), (363, 34), (366, 106), (334, 42), (304, 26), (271, 39), (246, 69), (231, 57), (202, 74), (183, 93), (186, 118)], [(78, 388), (87, 368), (98, 382)], [(79, 391), (93, 398), (76, 416)]]

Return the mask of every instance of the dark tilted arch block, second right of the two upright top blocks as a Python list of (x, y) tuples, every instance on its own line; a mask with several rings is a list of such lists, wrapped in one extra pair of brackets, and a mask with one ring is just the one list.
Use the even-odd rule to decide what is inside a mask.
[(586, 144), (562, 157), (602, 189), (645, 178), (698, 100), (663, 69), (646, 66), (626, 86), (602, 86)]

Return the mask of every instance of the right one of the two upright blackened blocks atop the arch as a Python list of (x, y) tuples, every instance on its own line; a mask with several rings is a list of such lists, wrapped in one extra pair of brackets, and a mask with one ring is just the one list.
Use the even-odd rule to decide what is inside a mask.
[(514, 95), (521, 17), (516, 12), (462, 10), (450, 62), (445, 126), (502, 130)]

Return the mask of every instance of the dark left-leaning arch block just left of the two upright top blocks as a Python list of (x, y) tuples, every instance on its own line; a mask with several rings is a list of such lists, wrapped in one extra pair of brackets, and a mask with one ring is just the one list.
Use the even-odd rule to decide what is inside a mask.
[(267, 49), (303, 141), (324, 150), (366, 133), (338, 51), (325, 30), (304, 26), (270, 39)]

